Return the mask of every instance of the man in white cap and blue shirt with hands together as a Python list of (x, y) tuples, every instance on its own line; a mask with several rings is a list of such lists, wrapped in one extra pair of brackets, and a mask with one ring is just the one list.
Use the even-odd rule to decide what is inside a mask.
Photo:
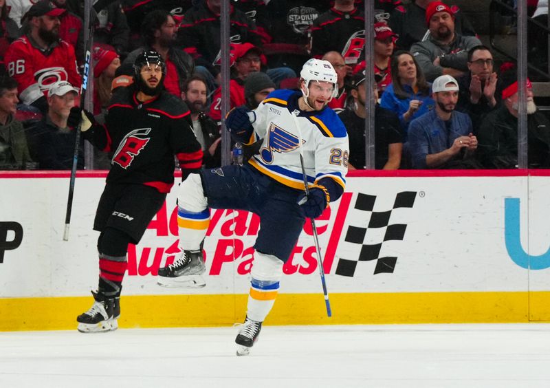
[(439, 76), (432, 84), (432, 97), (435, 109), (410, 122), (408, 142), (412, 168), (475, 166), (471, 158), (477, 149), (477, 138), (472, 133), (472, 120), (454, 110), (459, 99), (459, 84), (452, 76)]

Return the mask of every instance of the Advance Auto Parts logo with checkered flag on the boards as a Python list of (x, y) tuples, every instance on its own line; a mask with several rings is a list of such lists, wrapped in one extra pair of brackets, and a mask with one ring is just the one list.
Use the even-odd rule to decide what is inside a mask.
[[(383, 246), (387, 241), (404, 239), (407, 225), (397, 223), (402, 213), (396, 209), (412, 208), (416, 195), (415, 191), (397, 193), (391, 209), (378, 211), (375, 208), (377, 203), (375, 195), (359, 193), (352, 208), (355, 195), (344, 193), (337, 206), (327, 208), (325, 213), (316, 219), (317, 233), (326, 241), (326, 245), (321, 246), (325, 274), (353, 277), (359, 261), (375, 261), (374, 274), (392, 273), (397, 257), (380, 256), (380, 253), (384, 252)], [(149, 224), (148, 230), (157, 237), (172, 236), (173, 243), (166, 247), (129, 244), (129, 276), (156, 275), (159, 267), (173, 263), (179, 250), (177, 248), (177, 207), (170, 210), (165, 203)], [(349, 222), (349, 219), (369, 219), (368, 226), (366, 228), (359, 226), (360, 221)], [(356, 225), (350, 225), (350, 223)], [(208, 252), (204, 252), (208, 275), (218, 276), (225, 267), (227, 267), (226, 270), (235, 268), (236, 273), (240, 275), (249, 274), (254, 258), (254, 240), (259, 228), (260, 219), (257, 215), (247, 211), (212, 209), (206, 239), (215, 241), (215, 246)], [(380, 241), (372, 243), (373, 236), (380, 236), (381, 232), (383, 235)], [(342, 235), (345, 236), (344, 241), (340, 241)], [(344, 244), (349, 244), (345, 248), (351, 248), (348, 251), (353, 251), (353, 254), (346, 257), (338, 254)], [(233, 262), (236, 263), (235, 266)], [(336, 267), (336, 272), (333, 267)], [(283, 266), (283, 272), (287, 275), (296, 273), (309, 275), (317, 271), (313, 230), (311, 223), (306, 222), (303, 234), (300, 235), (300, 239)]]

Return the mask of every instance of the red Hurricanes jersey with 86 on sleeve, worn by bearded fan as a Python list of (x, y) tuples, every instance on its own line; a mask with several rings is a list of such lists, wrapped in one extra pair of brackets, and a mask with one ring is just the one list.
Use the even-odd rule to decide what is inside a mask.
[(41, 50), (28, 36), (21, 36), (8, 48), (4, 62), (10, 76), (17, 80), (19, 98), (27, 105), (46, 95), (58, 80), (67, 80), (74, 87), (82, 83), (74, 48), (61, 39), (48, 50)]

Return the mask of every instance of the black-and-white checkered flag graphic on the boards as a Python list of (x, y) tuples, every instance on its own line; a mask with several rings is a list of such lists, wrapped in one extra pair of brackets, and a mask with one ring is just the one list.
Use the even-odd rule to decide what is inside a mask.
[[(352, 225), (348, 227), (344, 241), (351, 244), (360, 244), (360, 253), (355, 260), (340, 257), (338, 260), (338, 265), (336, 266), (336, 274), (353, 277), (353, 274), (355, 274), (355, 268), (357, 267), (359, 261), (373, 260), (376, 260), (374, 274), (393, 273), (395, 264), (397, 263), (397, 257), (380, 257), (380, 250), (382, 248), (382, 244), (384, 244), (384, 241), (403, 240), (407, 225), (389, 224), (391, 213), (396, 208), (412, 208), (415, 204), (416, 196), (416, 191), (402, 191), (401, 193), (397, 193), (395, 196), (395, 202), (393, 203), (391, 210), (373, 211), (374, 204), (376, 202), (376, 195), (359, 193), (357, 200), (355, 201), (354, 208), (358, 211), (371, 213), (371, 219), (369, 220), (369, 225), (366, 228)], [(367, 231), (374, 231), (375, 235), (376, 233), (380, 235), (381, 241), (376, 244), (366, 244), (365, 237), (367, 235)]]

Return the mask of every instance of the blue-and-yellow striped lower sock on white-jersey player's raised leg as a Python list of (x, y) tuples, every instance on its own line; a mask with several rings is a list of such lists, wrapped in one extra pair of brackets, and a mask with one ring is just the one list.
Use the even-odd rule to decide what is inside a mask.
[(199, 213), (177, 208), (177, 226), (179, 247), (184, 250), (199, 250), (201, 242), (206, 236), (210, 225), (210, 210), (204, 209)]

